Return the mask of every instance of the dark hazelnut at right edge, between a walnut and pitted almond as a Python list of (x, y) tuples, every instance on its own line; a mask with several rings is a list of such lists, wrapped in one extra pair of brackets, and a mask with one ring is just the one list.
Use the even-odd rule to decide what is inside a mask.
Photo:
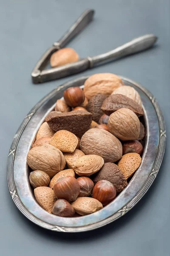
[(138, 153), (141, 155), (143, 152), (143, 146), (138, 140), (126, 141), (125, 143), (123, 143), (122, 148), (123, 154)]

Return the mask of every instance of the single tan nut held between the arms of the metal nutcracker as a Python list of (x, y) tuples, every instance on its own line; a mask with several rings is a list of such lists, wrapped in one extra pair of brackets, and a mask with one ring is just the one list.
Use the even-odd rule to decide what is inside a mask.
[(63, 48), (54, 52), (50, 58), (51, 67), (59, 67), (78, 61), (79, 55), (72, 48)]

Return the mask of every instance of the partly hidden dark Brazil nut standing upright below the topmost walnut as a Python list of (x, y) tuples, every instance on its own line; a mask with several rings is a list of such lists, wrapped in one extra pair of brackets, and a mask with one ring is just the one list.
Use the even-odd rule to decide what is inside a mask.
[(98, 122), (100, 117), (103, 115), (101, 110), (102, 103), (107, 98), (105, 94), (98, 93), (94, 95), (88, 102), (87, 111), (92, 113), (92, 119)]

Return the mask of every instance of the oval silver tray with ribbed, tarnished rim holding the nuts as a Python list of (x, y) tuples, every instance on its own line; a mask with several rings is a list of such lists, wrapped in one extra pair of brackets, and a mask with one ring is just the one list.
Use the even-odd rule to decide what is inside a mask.
[(164, 155), (166, 130), (164, 117), (156, 99), (142, 85), (122, 77), (124, 83), (134, 87), (142, 99), (146, 138), (141, 166), (117, 198), (98, 212), (82, 217), (63, 218), (42, 209), (35, 201), (28, 181), (26, 155), (45, 116), (53, 110), (56, 100), (62, 97), (66, 88), (82, 86), (87, 78), (81, 77), (63, 84), (38, 102), (20, 125), (9, 151), (7, 179), (14, 203), (30, 221), (49, 230), (81, 232), (115, 221), (132, 209), (147, 192), (159, 172)]

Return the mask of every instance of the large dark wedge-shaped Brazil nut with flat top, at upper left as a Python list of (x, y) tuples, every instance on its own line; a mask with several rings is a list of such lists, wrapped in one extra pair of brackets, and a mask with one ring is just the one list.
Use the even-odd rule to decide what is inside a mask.
[(92, 114), (88, 111), (49, 113), (45, 121), (54, 131), (67, 130), (74, 134), (85, 133), (90, 128)]

